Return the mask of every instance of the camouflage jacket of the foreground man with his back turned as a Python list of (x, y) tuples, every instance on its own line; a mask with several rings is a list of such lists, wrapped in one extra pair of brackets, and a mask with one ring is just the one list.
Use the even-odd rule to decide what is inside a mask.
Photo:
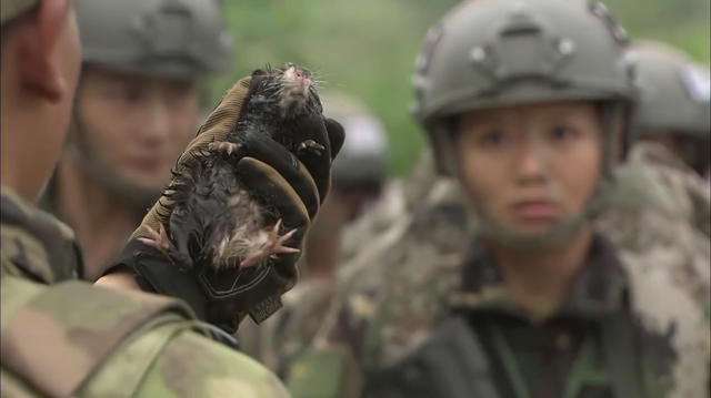
[(2, 187), (3, 397), (286, 397), (181, 302), (73, 280), (69, 227)]

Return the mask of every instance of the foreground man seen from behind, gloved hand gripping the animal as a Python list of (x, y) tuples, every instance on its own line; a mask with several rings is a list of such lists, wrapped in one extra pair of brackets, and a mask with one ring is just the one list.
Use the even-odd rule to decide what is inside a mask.
[[(279, 380), (254, 360), (226, 344), (230, 338), (196, 312), (210, 309), (204, 320), (224, 323), (244, 314), (241, 308), (264, 313), (264, 299), (288, 289), (298, 259), (279, 256), (273, 273), (279, 278), (257, 283), (251, 294), (234, 300), (216, 300), (186, 284), (194, 278), (182, 273), (179, 288), (156, 288), (184, 302), (140, 292), (132, 273), (151, 274), (152, 282), (179, 282), (164, 256), (132, 239), (124, 249), (127, 268), (102, 277), (98, 284), (72, 280), (82, 274), (81, 255), (73, 233), (38, 210), (36, 203), (58, 161), (70, 121), (72, 98), (80, 70), (79, 33), (71, 1), (3, 0), (0, 13), (1, 78), (1, 257), (2, 341), (0, 394), (7, 397), (284, 397)], [(240, 81), (223, 98), (186, 155), (207, 137), (224, 137), (233, 125), (249, 88)], [(317, 125), (336, 142), (342, 130), (332, 121)], [(318, 124), (318, 123), (317, 123)], [(336, 135), (334, 135), (336, 134)], [(318, 136), (318, 135), (316, 135)], [(340, 139), (342, 141), (342, 139)], [(248, 145), (250, 143), (248, 142)], [(270, 205), (284, 217), (298, 216), (289, 208), (318, 210), (316, 192), (296, 193), (313, 186), (311, 172), (293, 167), (276, 142), (260, 141), (268, 155), (248, 156), (237, 166), (268, 194)], [(338, 151), (338, 145), (333, 151)], [(328, 176), (330, 154), (310, 164), (310, 171)], [(271, 157), (270, 157), (271, 156)], [(287, 159), (288, 157), (288, 159)], [(242, 163), (244, 162), (244, 163)], [(178, 164), (180, 166), (180, 163)], [(317, 169), (318, 167), (318, 169)], [(250, 174), (251, 173), (251, 174)], [(288, 174), (287, 174), (288, 173)], [(289, 183), (282, 175), (289, 176)], [(316, 174), (314, 174), (316, 175)], [(310, 182), (310, 185), (309, 185)], [(292, 185), (290, 185), (293, 183)], [(303, 211), (306, 212), (306, 211)], [(144, 220), (151, 223), (150, 213)], [(284, 218), (284, 220), (286, 220)], [(142, 228), (137, 231), (141, 236)], [(294, 235), (299, 245), (303, 231)], [(163, 271), (161, 279), (161, 271)], [(217, 275), (218, 277), (229, 277)], [(170, 277), (170, 278), (169, 278)], [(243, 288), (234, 280), (224, 280)], [(192, 280), (197, 285), (196, 280)], [(251, 285), (250, 285), (251, 286)], [(241, 290), (240, 290), (241, 292)], [(197, 305), (197, 303), (200, 304)], [(188, 306), (187, 304), (190, 304)], [(203, 306), (201, 308), (201, 306)], [(212, 337), (222, 336), (220, 344)]]

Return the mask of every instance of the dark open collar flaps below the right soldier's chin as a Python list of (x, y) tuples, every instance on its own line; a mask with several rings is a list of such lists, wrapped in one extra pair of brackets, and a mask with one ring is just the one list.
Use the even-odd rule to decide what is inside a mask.
[[(599, 318), (625, 303), (627, 276), (614, 247), (600, 235), (590, 246), (585, 265), (573, 282), (569, 297), (552, 317)], [(455, 310), (501, 313), (528, 318), (510, 299), (503, 279), (483, 244), (475, 243), (462, 267), (462, 285), (450, 297)]]

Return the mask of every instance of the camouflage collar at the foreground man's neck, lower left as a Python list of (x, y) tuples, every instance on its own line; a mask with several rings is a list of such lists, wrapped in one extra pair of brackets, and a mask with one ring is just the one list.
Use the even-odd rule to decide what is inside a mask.
[(13, 266), (37, 282), (54, 284), (83, 275), (79, 245), (69, 226), (7, 186), (0, 190), (2, 268)]

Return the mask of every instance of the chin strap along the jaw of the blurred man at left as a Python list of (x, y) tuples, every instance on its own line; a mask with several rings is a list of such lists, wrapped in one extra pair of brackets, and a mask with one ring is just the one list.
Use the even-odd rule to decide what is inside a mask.
[(81, 167), (106, 191), (120, 197), (129, 206), (134, 206), (137, 211), (146, 211), (161, 194), (160, 188), (149, 188), (120, 176), (106, 162), (96, 156), (87, 143), (87, 134), (78, 112), (74, 112), (71, 139), (67, 142), (66, 150), (72, 151)]

